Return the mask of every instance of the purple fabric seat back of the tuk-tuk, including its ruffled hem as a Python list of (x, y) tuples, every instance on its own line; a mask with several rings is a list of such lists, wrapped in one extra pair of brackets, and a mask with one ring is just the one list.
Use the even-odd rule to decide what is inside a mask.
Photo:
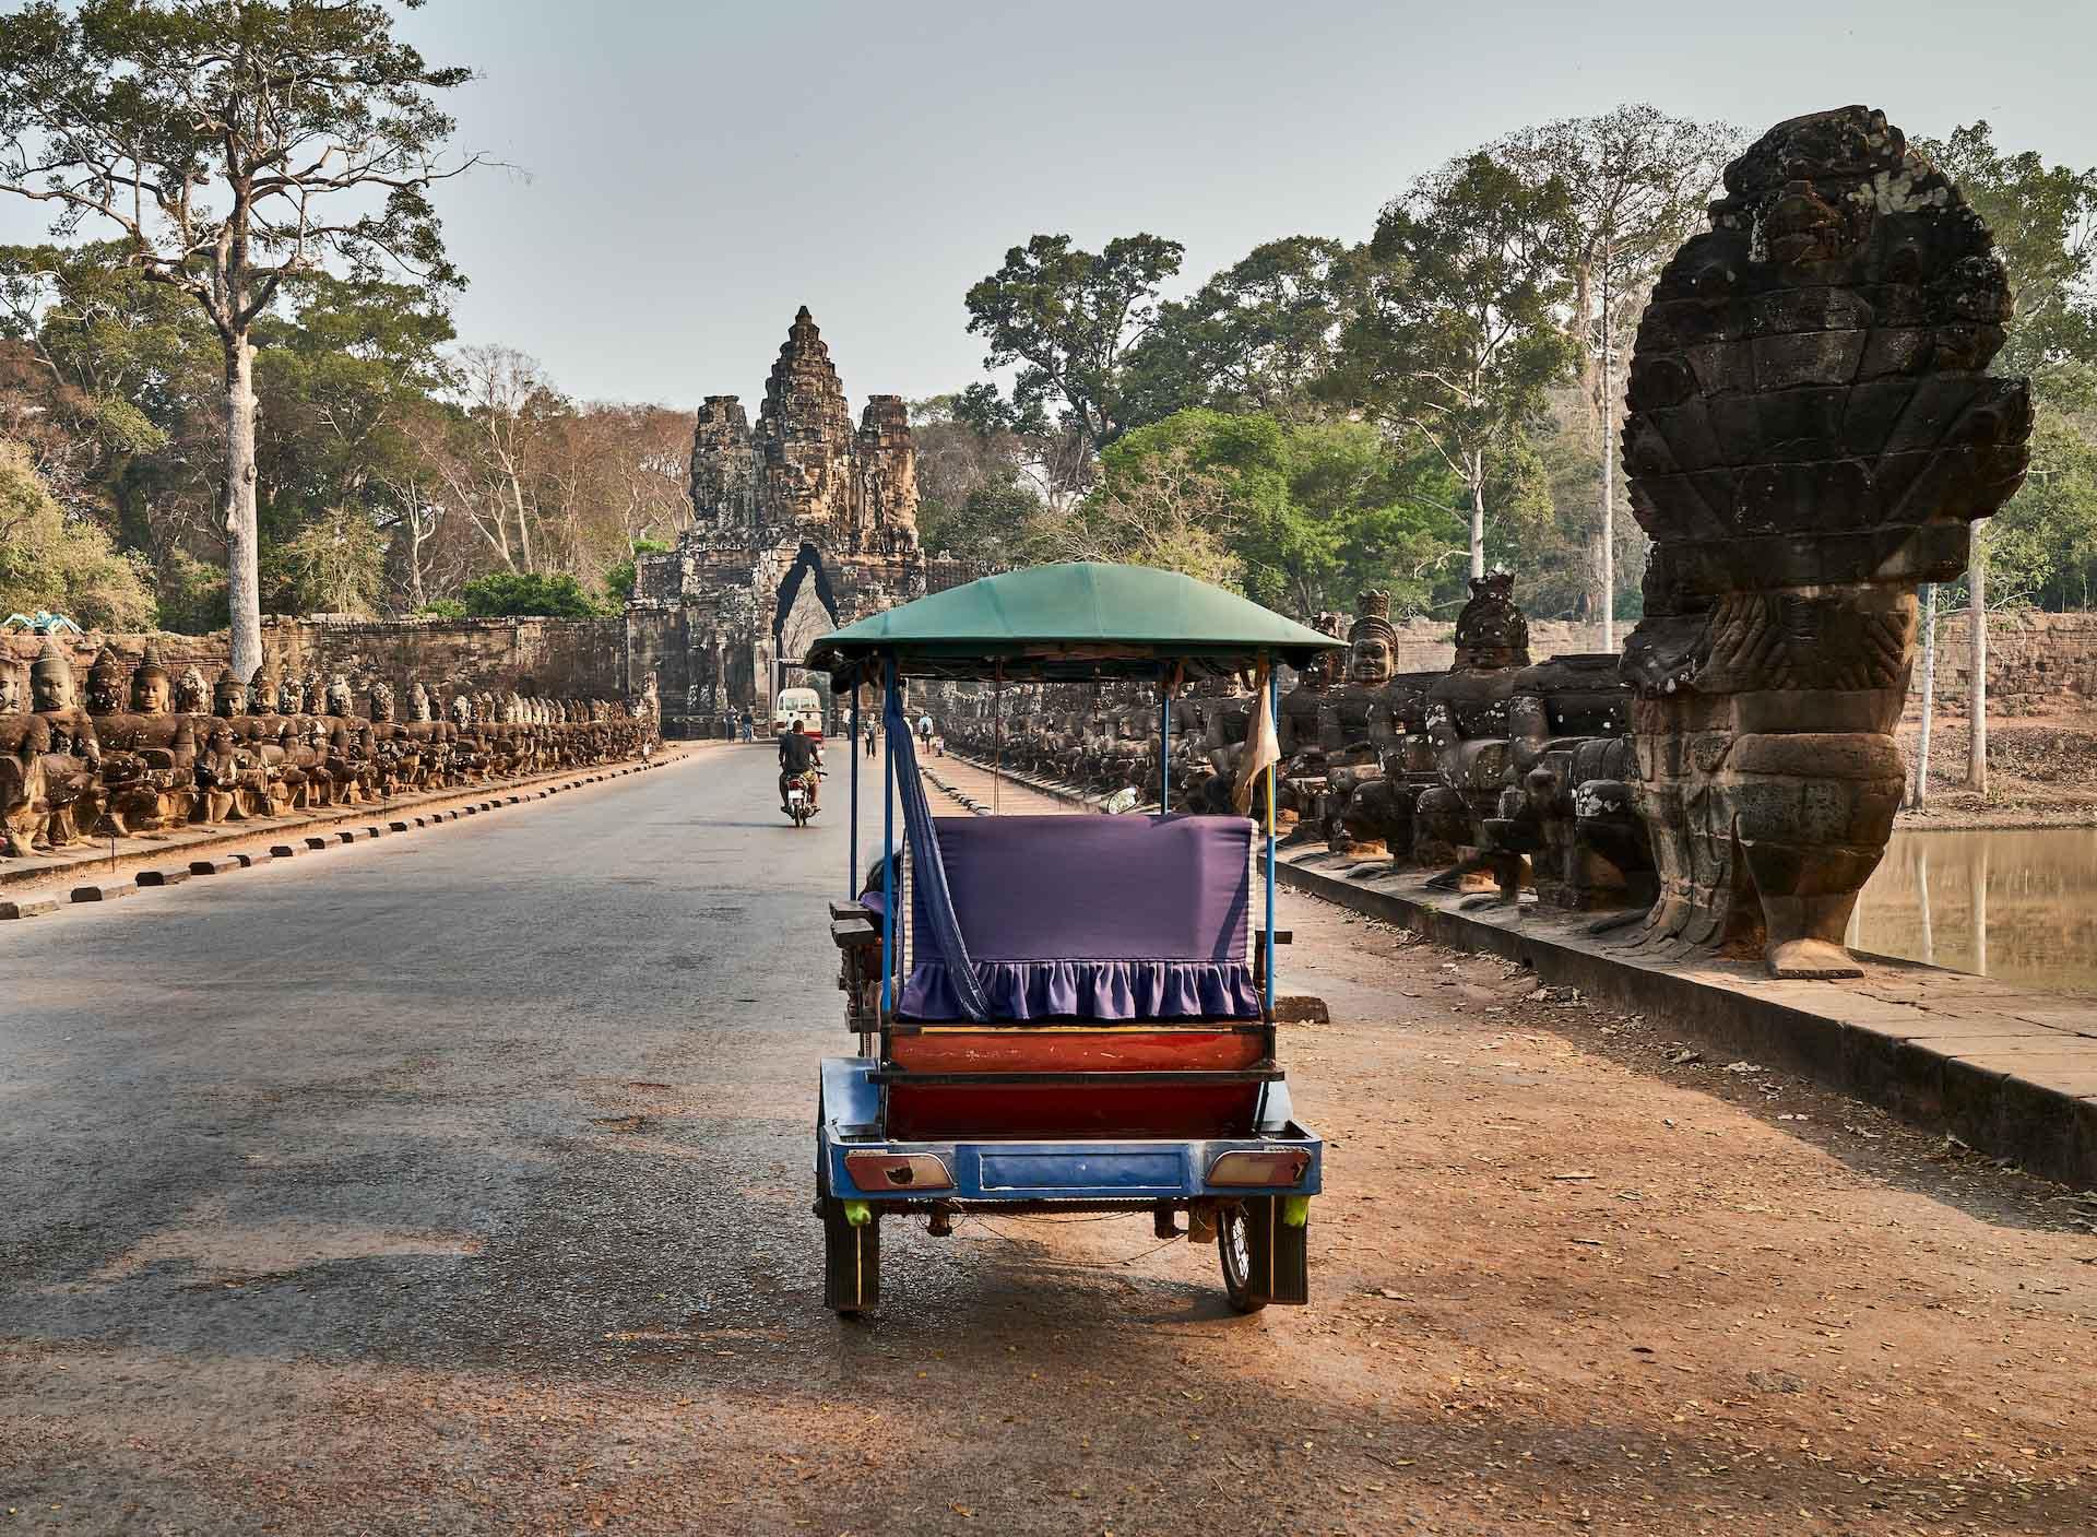
[[(996, 1019), (1258, 1019), (1246, 958), (1252, 822), (1235, 816), (939, 818), (939, 856)], [(902, 1013), (958, 1019), (912, 885)]]

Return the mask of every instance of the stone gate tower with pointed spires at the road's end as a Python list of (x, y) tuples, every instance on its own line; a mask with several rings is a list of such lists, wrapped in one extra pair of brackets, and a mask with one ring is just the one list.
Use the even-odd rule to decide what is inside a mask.
[[(751, 426), (711, 394), (692, 432), (692, 531), (635, 562), (629, 675), (658, 669), (663, 726), (696, 734), (726, 711), (770, 709), (807, 644), (853, 619), (948, 585), (916, 537), (916, 449), (898, 394), (858, 428), (807, 306), (780, 346)], [(948, 581), (942, 581), (946, 577)]]

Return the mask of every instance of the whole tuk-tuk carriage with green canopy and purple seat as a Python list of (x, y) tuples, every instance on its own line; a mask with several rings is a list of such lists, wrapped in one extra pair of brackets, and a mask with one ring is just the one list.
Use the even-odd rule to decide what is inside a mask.
[(1258, 763), (1275, 667), (1340, 646), (1189, 577), (1090, 562), (986, 577), (814, 644), (805, 665), (851, 698), (853, 734), (862, 690), (887, 730), (881, 862), (860, 879), (853, 753), (853, 868), (830, 904), (860, 1042), (822, 1063), (816, 1111), (830, 1308), (879, 1304), (883, 1220), (923, 1214), (946, 1235), (967, 1212), (1149, 1214), (1160, 1237), (1185, 1216), (1189, 1239), (1218, 1243), (1233, 1308), (1309, 1300), (1323, 1145), (1275, 1057), (1273, 770), (1262, 822), (1168, 803), (933, 818), (904, 686), (1139, 679), (1164, 757), (1174, 690), (1248, 675)]

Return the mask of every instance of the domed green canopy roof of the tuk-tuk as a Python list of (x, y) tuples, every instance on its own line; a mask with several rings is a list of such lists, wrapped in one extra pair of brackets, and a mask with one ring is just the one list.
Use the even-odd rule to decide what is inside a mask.
[(1346, 642), (1237, 593), (1151, 566), (1065, 562), (983, 577), (818, 640), (805, 667), (843, 681), (895, 656), (908, 677), (1088, 679), (1225, 673), (1269, 654), (1302, 667)]

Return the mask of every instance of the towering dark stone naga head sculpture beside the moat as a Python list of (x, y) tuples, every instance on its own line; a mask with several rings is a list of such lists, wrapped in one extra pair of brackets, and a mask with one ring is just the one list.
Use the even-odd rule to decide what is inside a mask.
[(1661, 870), (1648, 937), (1841, 948), (1891, 832), (1923, 581), (2015, 493), (2032, 407), (1986, 373), (2011, 315), (1992, 239), (1885, 115), (1793, 117), (1726, 168), (1661, 273), (1623, 457), (1652, 537), (1634, 684)]

